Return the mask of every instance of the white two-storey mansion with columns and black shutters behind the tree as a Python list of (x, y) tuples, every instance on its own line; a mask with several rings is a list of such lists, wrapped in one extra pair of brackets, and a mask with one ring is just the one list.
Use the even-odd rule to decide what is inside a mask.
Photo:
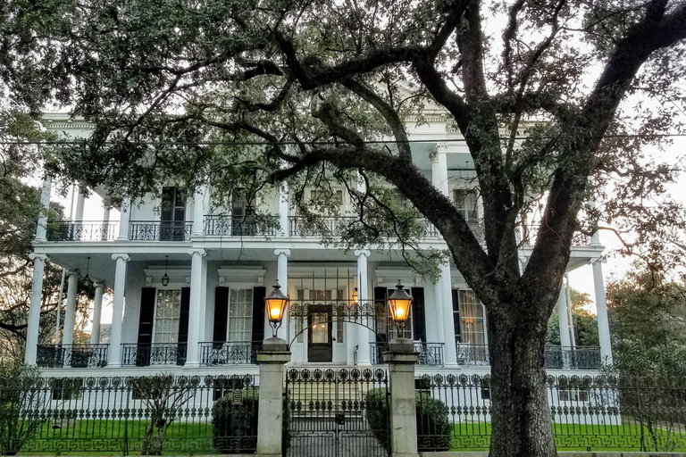
[[(479, 200), (468, 192), (471, 158), (442, 113), (425, 112), (414, 128), (413, 159), (467, 220), (479, 220)], [(71, 137), (88, 135), (85, 122), (47, 114), (46, 127)], [(437, 138), (445, 138), (441, 141)], [(425, 139), (426, 142), (421, 142)], [(51, 183), (46, 179), (42, 203)], [(104, 195), (105, 189), (95, 189)], [(345, 253), (311, 236), (289, 205), (287, 187), (264, 195), (263, 210), (278, 228), (251, 224), (246, 204), (234, 196), (212, 209), (211, 189), (184, 195), (163, 187), (161, 200), (127, 202), (119, 220), (83, 220), (79, 196), (74, 220), (57, 229), (39, 221), (33, 259), (34, 284), (29, 311), (26, 361), (48, 376), (122, 376), (156, 372), (230, 374), (257, 371), (255, 352), (272, 328), (264, 315), (264, 296), (278, 279), (290, 297), (279, 336), (289, 341), (290, 364), (383, 364), (389, 337), (385, 300), (402, 281), (414, 304), (406, 337), (420, 353), (419, 372), (489, 370), (485, 312), (454, 266), (440, 268), (438, 283), (417, 276), (394, 249)], [(346, 193), (341, 187), (343, 206)], [(335, 233), (346, 216), (324, 221)], [(426, 224), (425, 247), (444, 245)], [(520, 251), (527, 261), (528, 244)], [(598, 236), (576, 237), (567, 270), (593, 264), (600, 347), (575, 347), (569, 328), (565, 287), (557, 306), (561, 346), (546, 353), (546, 366), (561, 373), (597, 370), (611, 358), (603, 284), (603, 246)], [(41, 288), (45, 262), (68, 270), (68, 295), (59, 344), (38, 345)], [(89, 345), (73, 344), (79, 275), (95, 281), (95, 311)], [(113, 323), (108, 344), (100, 343), (103, 290), (113, 289)], [(254, 371), (251, 371), (254, 370)]]

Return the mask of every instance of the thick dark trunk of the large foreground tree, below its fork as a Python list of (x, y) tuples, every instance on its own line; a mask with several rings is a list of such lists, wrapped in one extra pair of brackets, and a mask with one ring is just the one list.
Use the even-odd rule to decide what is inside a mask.
[(533, 316), (536, 306), (508, 304), (489, 312), (489, 457), (555, 457), (543, 369), (546, 318)]

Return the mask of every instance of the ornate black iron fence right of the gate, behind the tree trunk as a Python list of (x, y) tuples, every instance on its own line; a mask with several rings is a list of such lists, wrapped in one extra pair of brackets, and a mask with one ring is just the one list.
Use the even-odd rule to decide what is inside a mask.
[[(545, 388), (558, 449), (686, 449), (686, 379), (548, 376)], [(416, 389), (421, 450), (488, 449), (489, 376), (425, 375)]]

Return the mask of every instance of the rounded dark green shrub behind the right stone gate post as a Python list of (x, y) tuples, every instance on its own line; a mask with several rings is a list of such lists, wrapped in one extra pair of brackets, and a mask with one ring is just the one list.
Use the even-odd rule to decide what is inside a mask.
[[(426, 393), (417, 393), (416, 402), (419, 451), (448, 451), (453, 431), (448, 419), (448, 406)], [(390, 442), (389, 414), (386, 389), (372, 389), (367, 395), (367, 421), (386, 449), (389, 449)]]

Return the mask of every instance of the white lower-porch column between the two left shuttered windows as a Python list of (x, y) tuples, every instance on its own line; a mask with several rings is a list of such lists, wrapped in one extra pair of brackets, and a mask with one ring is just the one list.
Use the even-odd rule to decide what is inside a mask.
[(188, 346), (186, 349), (186, 367), (197, 367), (200, 364), (200, 335), (201, 326), (205, 325), (205, 319), (201, 313), (205, 312), (203, 303), (203, 257), (205, 249), (189, 249), (190, 261), (190, 303), (188, 306)]

